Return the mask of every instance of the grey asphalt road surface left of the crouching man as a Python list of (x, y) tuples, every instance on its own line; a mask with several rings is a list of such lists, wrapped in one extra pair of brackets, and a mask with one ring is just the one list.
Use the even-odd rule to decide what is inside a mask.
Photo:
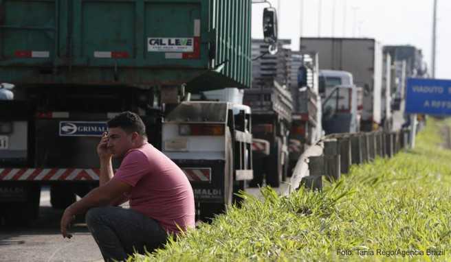
[(59, 222), (63, 211), (50, 206), (50, 191), (41, 190), (39, 219), (28, 227), (0, 227), (0, 261), (103, 261), (97, 243), (83, 219), (71, 228), (72, 239), (63, 239)]

